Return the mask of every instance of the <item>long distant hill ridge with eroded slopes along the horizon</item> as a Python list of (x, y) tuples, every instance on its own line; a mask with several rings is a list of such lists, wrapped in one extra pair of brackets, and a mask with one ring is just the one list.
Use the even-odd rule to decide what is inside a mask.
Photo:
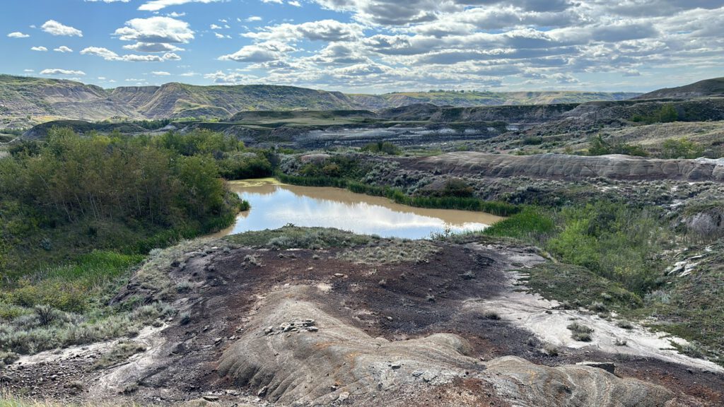
[(53, 119), (227, 119), (250, 110), (380, 110), (411, 104), (497, 106), (621, 100), (636, 93), (408, 92), (345, 94), (282, 85), (125, 86), (104, 89), (72, 80), (0, 75), (0, 128)]

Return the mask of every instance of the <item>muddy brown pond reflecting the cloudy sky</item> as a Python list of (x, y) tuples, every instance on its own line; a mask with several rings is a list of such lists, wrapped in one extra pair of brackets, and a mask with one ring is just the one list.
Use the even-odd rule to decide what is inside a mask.
[(293, 224), (418, 239), (446, 230), (483, 230), (502, 219), (484, 212), (413, 208), (345, 189), (282, 185), (272, 179), (233, 181), (230, 189), (249, 201), (251, 209), (241, 212), (235, 225), (216, 237)]

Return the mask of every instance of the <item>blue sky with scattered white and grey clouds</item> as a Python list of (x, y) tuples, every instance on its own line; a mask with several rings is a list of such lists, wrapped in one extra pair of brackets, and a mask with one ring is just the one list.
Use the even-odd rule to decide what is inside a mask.
[(0, 73), (104, 88), (651, 91), (724, 76), (724, 0), (3, 0)]

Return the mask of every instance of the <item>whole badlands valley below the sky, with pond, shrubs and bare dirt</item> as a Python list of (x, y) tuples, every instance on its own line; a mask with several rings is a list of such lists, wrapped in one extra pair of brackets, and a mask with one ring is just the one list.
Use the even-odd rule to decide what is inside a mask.
[(45, 83), (130, 107), (4, 130), (0, 405), (720, 406), (720, 83)]

